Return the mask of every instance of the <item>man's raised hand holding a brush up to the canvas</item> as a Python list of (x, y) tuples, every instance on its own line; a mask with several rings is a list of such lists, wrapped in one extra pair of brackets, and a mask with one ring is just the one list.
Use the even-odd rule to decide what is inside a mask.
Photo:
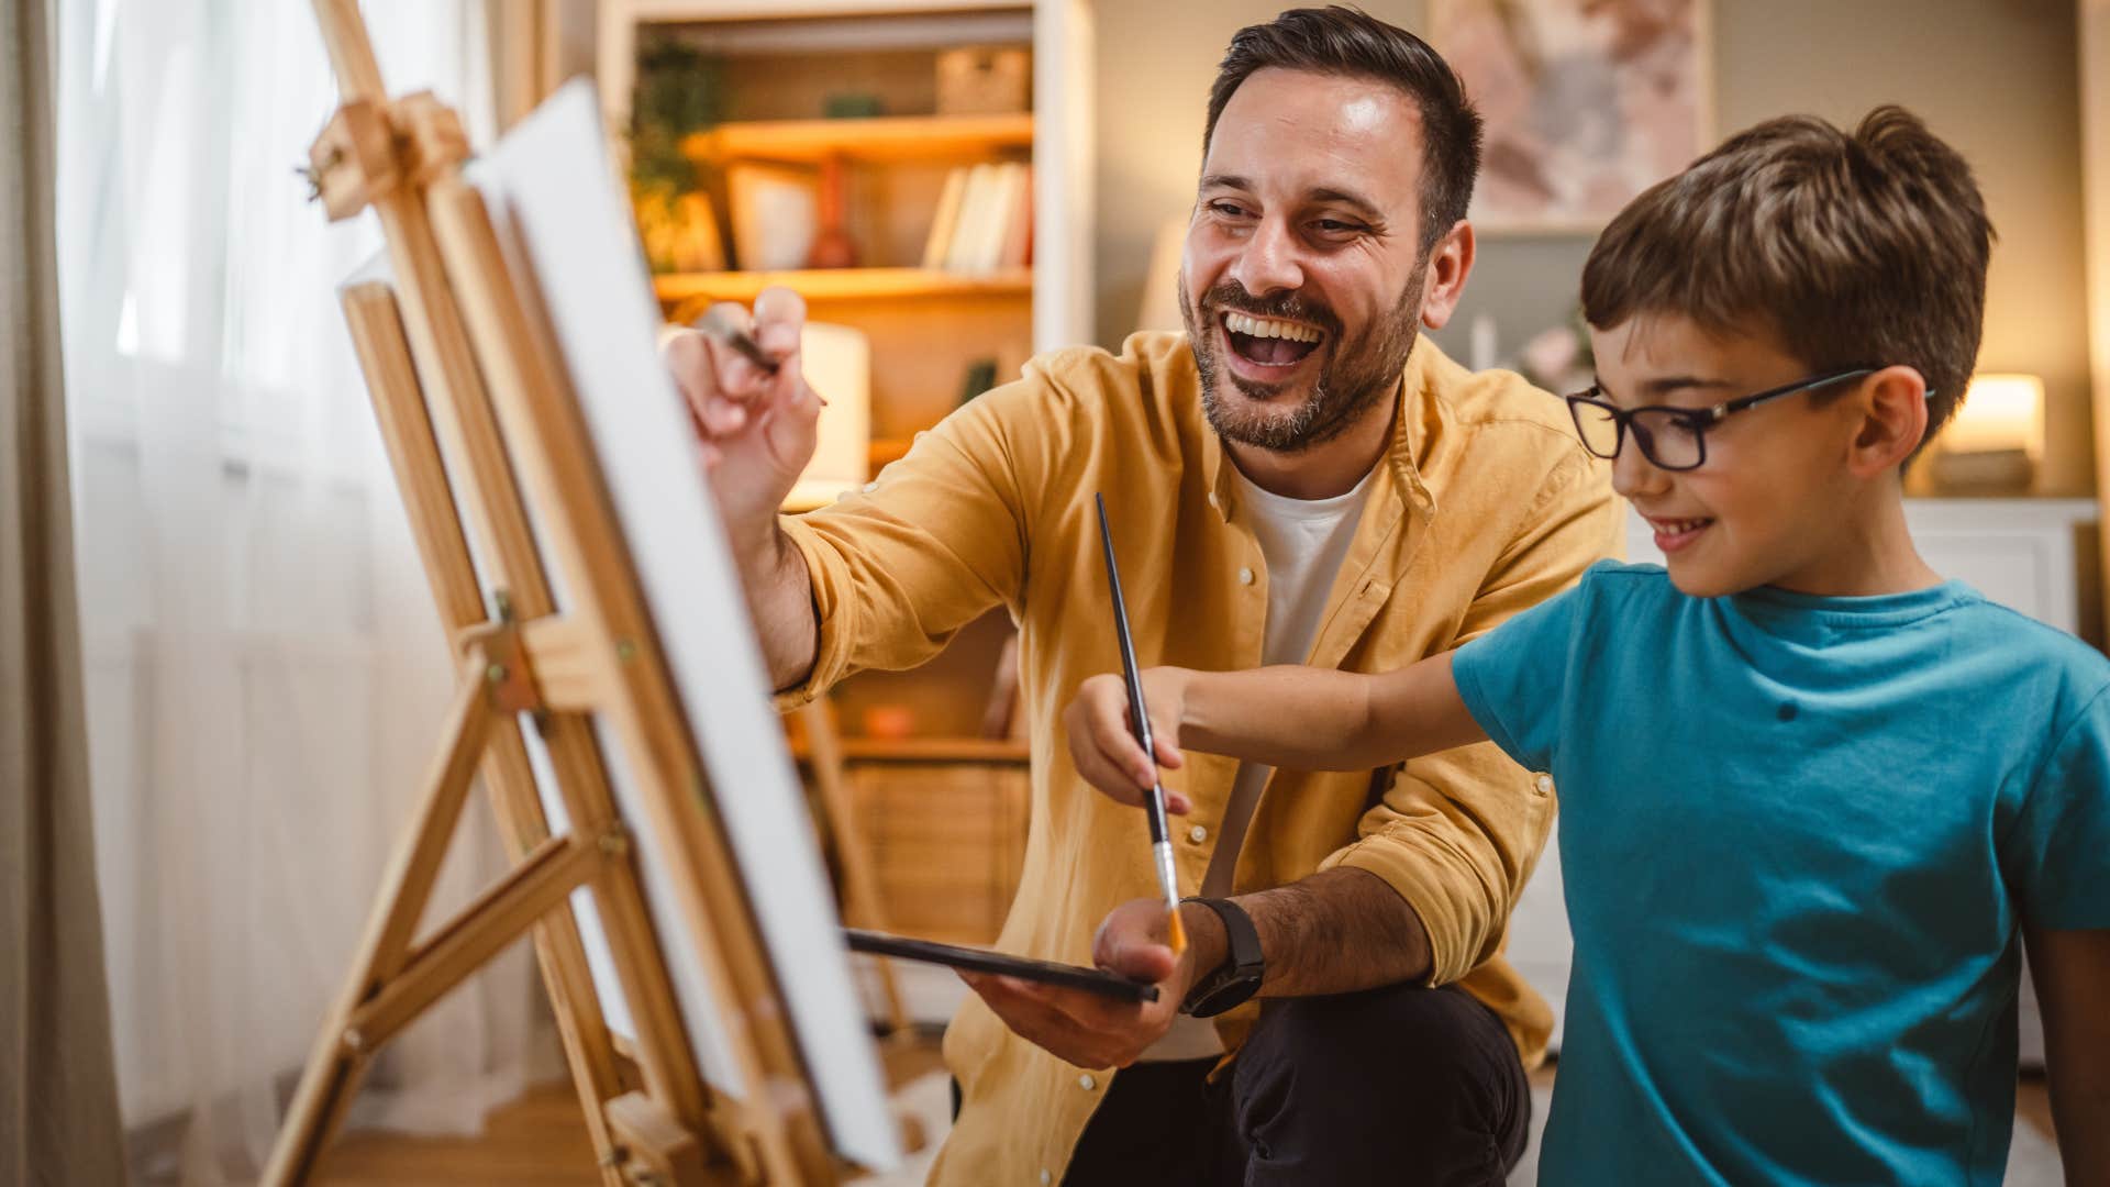
[(764, 289), (753, 317), (738, 304), (713, 306), (711, 317), (745, 327), (762, 353), (776, 359), (770, 374), (694, 329), (660, 348), (688, 399), (711, 490), (745, 566), (776, 541), (776, 507), (812, 460), (823, 401), (800, 368), (806, 302), (798, 294)]

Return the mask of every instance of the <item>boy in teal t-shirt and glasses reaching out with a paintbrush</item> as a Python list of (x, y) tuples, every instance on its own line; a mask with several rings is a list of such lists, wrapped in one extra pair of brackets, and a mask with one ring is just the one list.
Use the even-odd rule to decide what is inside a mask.
[[(2068, 1181), (2110, 1183), (2110, 663), (1943, 583), (1903, 515), (1990, 237), (1903, 110), (1732, 137), (1582, 277), (1599, 382), (1570, 410), (1667, 570), (1601, 564), (1380, 676), (1146, 674), (1165, 767), (1492, 737), (1553, 775), (1574, 974), (1547, 1181), (1996, 1183), (2026, 936)], [(1068, 724), (1135, 803), (1120, 680)]]

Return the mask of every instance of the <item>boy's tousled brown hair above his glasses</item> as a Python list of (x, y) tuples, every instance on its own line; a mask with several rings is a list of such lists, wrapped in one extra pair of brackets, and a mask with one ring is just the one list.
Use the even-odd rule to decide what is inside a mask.
[(1629, 203), (1582, 268), (1582, 317), (1756, 321), (1812, 372), (1916, 368), (1933, 391), (1924, 446), (1977, 365), (1990, 256), (1971, 167), (1918, 116), (1876, 108), (1853, 135), (1787, 116)]

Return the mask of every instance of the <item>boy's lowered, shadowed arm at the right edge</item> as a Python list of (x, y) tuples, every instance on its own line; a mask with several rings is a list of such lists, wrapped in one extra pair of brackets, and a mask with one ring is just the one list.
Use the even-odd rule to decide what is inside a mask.
[(2028, 934), (2068, 1183), (2110, 1183), (2110, 929)]

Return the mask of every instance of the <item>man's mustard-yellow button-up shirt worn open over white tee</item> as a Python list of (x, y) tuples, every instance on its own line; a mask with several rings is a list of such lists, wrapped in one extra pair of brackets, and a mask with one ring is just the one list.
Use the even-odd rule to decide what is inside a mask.
[[(1608, 467), (1551, 395), (1509, 372), (1473, 374), (1422, 338), (1407, 359), (1393, 444), (1334, 579), (1310, 663), (1384, 672), (1450, 651), (1572, 585), (1618, 524)], [(1135, 809), (1085, 784), (1061, 710), (1118, 672), (1093, 494), (1114, 520), (1135, 655), (1203, 670), (1260, 663), (1268, 577), (1222, 439), (1201, 410), (1184, 334), (1123, 353), (1059, 351), (924, 433), (865, 492), (785, 520), (821, 621), (812, 697), (850, 672), (914, 667), (1004, 606), (1019, 623), (1032, 724), (1032, 813), (1019, 893), (998, 946), (1091, 963), (1116, 904), (1158, 893)], [(1190, 754), (1167, 784), (1203, 826), (1175, 834), (1179, 883), (1201, 885), (1236, 760)], [(1236, 864), (1239, 893), (1329, 866), (1390, 883), (1420, 915), (1431, 984), (1458, 982), (1509, 1026), (1528, 1064), (1551, 1012), (1500, 957), (1509, 910), (1553, 822), (1553, 794), (1492, 743), (1395, 771), (1277, 771)], [(1217, 1020), (1236, 1050), (1247, 1003)], [(964, 1105), (933, 1183), (1059, 1181), (1106, 1094), (968, 999), (945, 1033)], [(1044, 1172), (1044, 1174), (1042, 1174)]]

